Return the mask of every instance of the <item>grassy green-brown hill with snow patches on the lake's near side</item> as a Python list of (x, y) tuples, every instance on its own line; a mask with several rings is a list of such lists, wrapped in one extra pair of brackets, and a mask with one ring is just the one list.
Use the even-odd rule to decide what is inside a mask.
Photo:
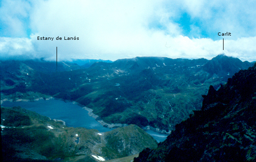
[[(1, 107), (1, 138), (5, 162), (95, 162), (138, 154), (157, 142), (137, 125), (101, 133), (73, 128), (19, 107)], [(93, 156), (92, 156), (93, 155)], [(95, 157), (94, 157), (95, 156)]]

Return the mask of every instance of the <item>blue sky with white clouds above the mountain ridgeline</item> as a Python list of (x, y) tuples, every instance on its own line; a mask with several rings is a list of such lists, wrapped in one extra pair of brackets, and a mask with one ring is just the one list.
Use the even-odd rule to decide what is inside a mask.
[(225, 54), (252, 62), (256, 0), (0, 0), (1, 59), (56, 61), (56, 47), (58, 61)]

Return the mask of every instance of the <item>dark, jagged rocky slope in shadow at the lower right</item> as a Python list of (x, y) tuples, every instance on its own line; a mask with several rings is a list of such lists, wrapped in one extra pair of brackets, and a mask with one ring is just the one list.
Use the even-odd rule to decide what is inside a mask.
[(210, 87), (203, 97), (202, 110), (134, 162), (255, 161), (256, 65), (240, 70), (218, 91)]

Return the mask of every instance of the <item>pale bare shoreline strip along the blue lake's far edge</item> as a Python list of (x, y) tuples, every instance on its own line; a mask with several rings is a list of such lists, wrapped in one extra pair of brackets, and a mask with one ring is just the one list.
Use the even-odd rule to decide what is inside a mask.
[[(98, 115), (94, 114), (93, 113), (93, 109), (91, 108), (88, 108), (86, 106), (83, 106), (81, 105), (80, 103), (76, 102), (76, 101), (71, 101), (71, 100), (64, 100), (64, 99), (59, 99), (59, 98), (54, 98), (54, 97), (48, 97), (48, 98), (43, 98), (43, 97), (40, 97), (40, 98), (36, 98), (34, 100), (28, 100), (28, 99), (3, 99), (1, 100), (1, 105), (3, 102), (5, 101), (9, 101), (9, 102), (20, 102), (20, 101), (24, 101), (24, 102), (34, 102), (34, 101), (38, 101), (38, 100), (51, 100), (51, 99), (55, 99), (55, 100), (63, 100), (64, 102), (72, 102), (73, 104), (75, 105), (78, 105), (78, 106), (81, 106), (84, 110), (88, 111), (88, 115), (92, 118), (95, 118), (95, 120), (100, 123), (102, 126), (104, 127), (107, 127), (109, 129), (112, 129), (112, 128), (118, 128), (118, 127), (124, 127), (124, 126), (127, 126), (128, 124), (121, 124), (121, 123), (112, 123), (112, 124), (109, 124), (109, 123), (106, 123), (104, 122)], [(58, 119), (55, 119), (55, 120), (58, 120)], [(58, 120), (60, 121), (60, 120)], [(62, 121), (65, 125), (65, 122)], [(155, 131), (155, 132), (159, 132), (159, 133), (164, 133), (164, 134), (170, 134), (171, 131), (169, 130), (168, 132), (166, 130), (160, 130), (159, 128), (154, 128), (150, 125), (147, 125), (145, 127), (142, 128), (143, 130), (152, 130), (152, 131)]]

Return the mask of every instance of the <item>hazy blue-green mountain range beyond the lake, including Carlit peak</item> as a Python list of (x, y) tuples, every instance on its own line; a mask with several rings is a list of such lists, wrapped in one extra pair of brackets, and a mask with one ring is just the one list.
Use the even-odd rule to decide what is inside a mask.
[[(50, 95), (93, 109), (106, 123), (149, 126), (170, 132), (202, 106), (210, 85), (221, 87), (241, 69), (253, 66), (233, 57), (206, 59), (135, 57), (115, 62), (1, 61), (1, 99)], [(79, 64), (79, 65), (78, 65)], [(84, 65), (84, 64), (83, 64)], [(31, 93), (36, 92), (36, 93)]]

